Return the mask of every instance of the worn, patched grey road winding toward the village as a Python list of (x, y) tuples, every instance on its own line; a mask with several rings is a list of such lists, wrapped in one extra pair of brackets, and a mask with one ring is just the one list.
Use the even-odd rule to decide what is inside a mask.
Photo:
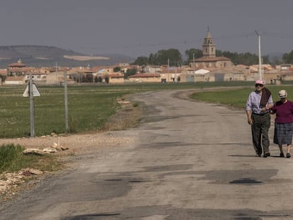
[(293, 159), (255, 157), (244, 111), (175, 93), (138, 95), (144, 124), (109, 134), (133, 144), (81, 156), (0, 219), (293, 219)]

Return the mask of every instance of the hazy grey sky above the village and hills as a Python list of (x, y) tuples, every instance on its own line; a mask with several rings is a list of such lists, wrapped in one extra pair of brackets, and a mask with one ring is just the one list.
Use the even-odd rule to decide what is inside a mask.
[(149, 56), (202, 49), (293, 50), (292, 0), (1, 0), (0, 46), (46, 45), (86, 54)]

